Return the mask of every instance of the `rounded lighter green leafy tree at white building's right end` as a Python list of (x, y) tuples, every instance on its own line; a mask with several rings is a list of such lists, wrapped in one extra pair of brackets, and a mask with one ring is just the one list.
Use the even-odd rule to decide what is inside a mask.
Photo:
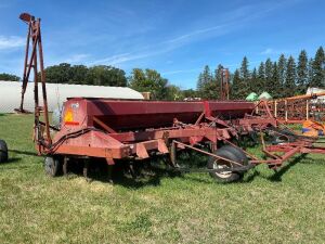
[(133, 68), (129, 86), (140, 92), (151, 92), (154, 100), (168, 100), (168, 80), (154, 69)]

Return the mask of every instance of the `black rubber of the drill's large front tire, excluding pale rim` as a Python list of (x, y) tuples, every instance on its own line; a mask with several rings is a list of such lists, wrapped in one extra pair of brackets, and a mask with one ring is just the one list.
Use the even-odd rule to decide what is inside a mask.
[[(234, 146), (231, 147), (233, 149)], [(234, 162), (238, 162), (240, 164), (240, 157), (236, 155), (235, 151), (232, 149), (230, 149), (227, 145), (224, 145), (221, 149), (217, 150), (216, 155)], [(214, 157), (209, 158), (207, 165), (208, 169), (213, 169), (214, 162), (216, 162)], [(236, 167), (236, 166), (232, 166), (232, 167)], [(243, 174), (239, 172), (231, 172), (226, 178), (222, 178), (216, 172), (210, 172), (210, 176), (214, 178), (218, 182), (222, 182), (222, 183), (235, 182), (243, 178)]]

